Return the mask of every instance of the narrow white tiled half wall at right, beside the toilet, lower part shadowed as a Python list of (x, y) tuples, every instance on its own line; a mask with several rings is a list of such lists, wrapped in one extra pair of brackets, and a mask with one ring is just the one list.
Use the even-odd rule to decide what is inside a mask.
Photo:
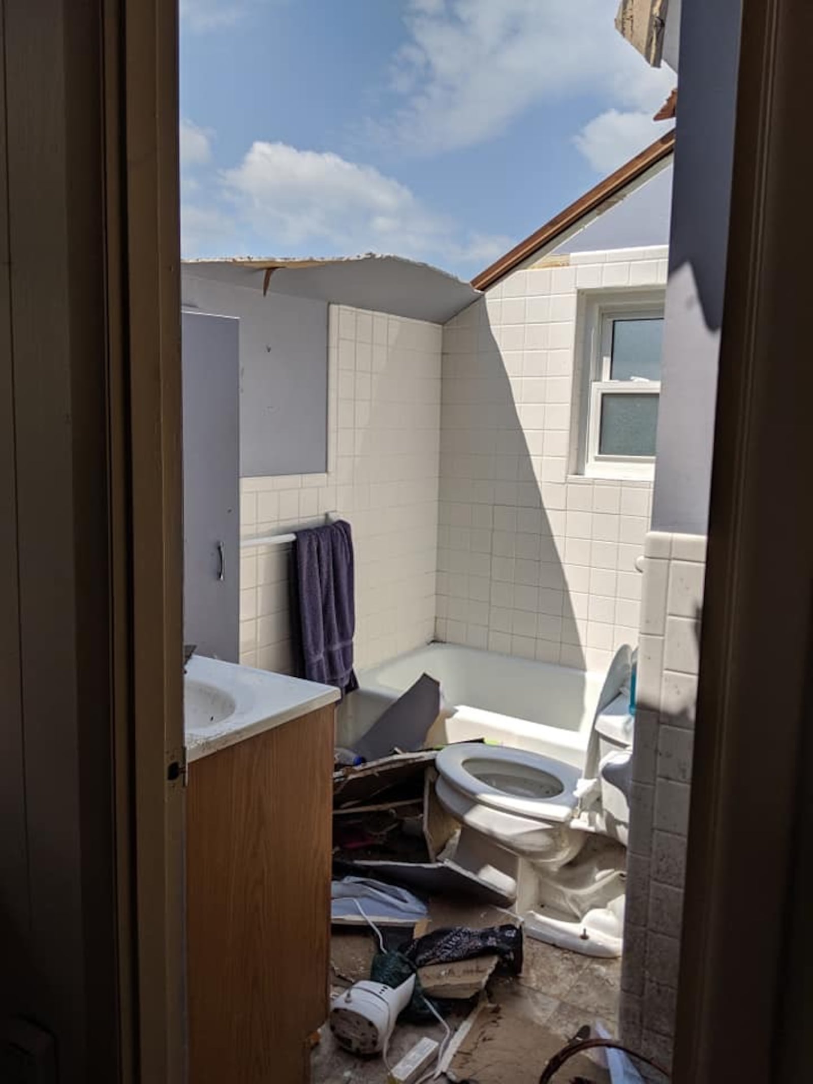
[(621, 1033), (669, 1064), (697, 700), (706, 539), (647, 535), (627, 869)]

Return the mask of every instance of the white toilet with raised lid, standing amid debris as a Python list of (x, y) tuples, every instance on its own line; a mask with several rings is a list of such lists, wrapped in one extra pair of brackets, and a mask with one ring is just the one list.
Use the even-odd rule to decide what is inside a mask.
[(631, 649), (619, 648), (583, 770), (476, 743), (447, 746), (436, 761), (437, 798), (461, 825), (454, 863), (511, 901), (529, 935), (590, 956), (622, 947), (631, 669)]

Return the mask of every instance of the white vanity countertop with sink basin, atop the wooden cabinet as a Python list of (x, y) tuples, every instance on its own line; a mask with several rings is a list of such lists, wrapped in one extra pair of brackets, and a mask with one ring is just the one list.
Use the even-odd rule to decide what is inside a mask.
[(193, 655), (184, 678), (186, 761), (282, 726), (339, 699), (333, 685)]

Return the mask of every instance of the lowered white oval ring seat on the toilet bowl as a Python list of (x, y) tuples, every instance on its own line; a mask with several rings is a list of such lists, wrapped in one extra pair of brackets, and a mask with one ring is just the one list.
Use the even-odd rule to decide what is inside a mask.
[[(441, 749), (436, 763), (440, 776), (473, 802), (528, 821), (565, 824), (572, 820), (578, 804), (576, 788), (581, 772), (552, 757), (525, 749), (462, 743)], [(515, 779), (516, 791), (493, 786), (488, 782), (489, 775), (504, 775), (508, 782)], [(560, 787), (558, 793), (544, 792), (556, 784)], [(521, 793), (524, 789), (527, 795)], [(532, 797), (534, 790), (541, 797)]]

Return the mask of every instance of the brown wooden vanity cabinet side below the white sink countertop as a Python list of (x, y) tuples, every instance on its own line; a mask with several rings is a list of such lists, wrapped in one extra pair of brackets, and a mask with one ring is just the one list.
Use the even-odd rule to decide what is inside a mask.
[(328, 1008), (334, 708), (189, 765), (190, 1084), (307, 1084)]

